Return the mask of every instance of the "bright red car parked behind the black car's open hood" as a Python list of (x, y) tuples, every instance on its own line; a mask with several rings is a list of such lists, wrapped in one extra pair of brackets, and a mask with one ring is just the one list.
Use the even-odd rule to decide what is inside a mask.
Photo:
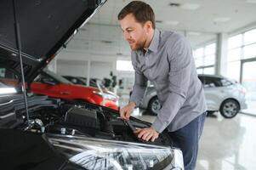
[(107, 91), (100, 92), (99, 88), (72, 84), (64, 77), (51, 71), (43, 71), (31, 83), (34, 94), (48, 95), (53, 98), (86, 101), (118, 110), (118, 96)]

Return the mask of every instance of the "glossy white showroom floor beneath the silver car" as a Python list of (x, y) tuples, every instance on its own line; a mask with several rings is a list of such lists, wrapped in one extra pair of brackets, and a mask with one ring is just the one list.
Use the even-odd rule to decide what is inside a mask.
[[(152, 122), (155, 116), (138, 116)], [(256, 169), (256, 116), (225, 119), (208, 116), (200, 141), (196, 170)], [(254, 134), (254, 135), (253, 135)]]

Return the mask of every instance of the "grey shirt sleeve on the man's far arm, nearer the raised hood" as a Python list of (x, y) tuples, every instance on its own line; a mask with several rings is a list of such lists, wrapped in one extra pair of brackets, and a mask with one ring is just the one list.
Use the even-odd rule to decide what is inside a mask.
[(147, 78), (144, 76), (144, 74), (139, 71), (139, 68), (137, 67), (136, 62), (136, 54), (132, 53), (132, 64), (134, 66), (134, 74), (135, 74), (135, 81), (134, 81), (134, 87), (133, 87), (133, 93), (130, 97), (130, 101), (134, 101), (136, 104), (136, 107), (139, 107), (139, 102), (141, 99), (143, 99), (145, 94), (145, 88), (147, 86)]

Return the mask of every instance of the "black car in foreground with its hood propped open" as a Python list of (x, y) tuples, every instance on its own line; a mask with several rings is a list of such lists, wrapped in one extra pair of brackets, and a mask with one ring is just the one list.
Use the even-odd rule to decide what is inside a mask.
[(167, 131), (153, 143), (143, 142), (132, 129), (150, 127), (149, 122), (131, 117), (128, 123), (102, 105), (30, 91), (31, 82), (103, 3), (1, 1), (1, 169), (184, 169), (181, 151), (167, 146), (172, 143)]

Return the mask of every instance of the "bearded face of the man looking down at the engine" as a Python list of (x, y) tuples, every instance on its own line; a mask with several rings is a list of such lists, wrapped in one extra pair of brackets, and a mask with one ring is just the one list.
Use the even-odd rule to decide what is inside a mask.
[(145, 47), (147, 39), (147, 30), (134, 18), (134, 14), (126, 15), (122, 20), (119, 20), (123, 37), (128, 41), (132, 50), (137, 50)]

